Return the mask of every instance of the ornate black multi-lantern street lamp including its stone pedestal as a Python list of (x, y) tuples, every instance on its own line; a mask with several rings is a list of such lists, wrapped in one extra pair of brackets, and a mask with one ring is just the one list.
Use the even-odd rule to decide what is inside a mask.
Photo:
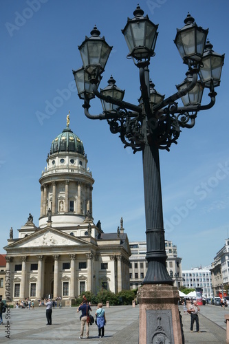
[[(217, 94), (214, 87), (220, 83), (224, 55), (212, 51), (212, 46), (208, 42), (206, 44), (208, 30), (197, 26), (188, 14), (184, 28), (177, 30), (175, 37), (175, 45), (183, 62), (188, 65), (188, 72), (184, 82), (177, 86), (177, 92), (164, 98), (155, 91), (149, 78), (157, 25), (143, 14), (138, 6), (133, 19), (128, 19), (122, 30), (129, 47), (127, 58), (133, 58), (139, 68), (141, 94), (138, 105), (123, 100), (124, 91), (116, 87), (112, 77), (109, 85), (98, 91), (111, 47), (104, 38), (100, 38), (96, 27), (91, 31), (91, 37), (86, 37), (79, 47), (83, 71), (78, 69), (80, 72), (74, 72), (74, 76), (78, 96), (84, 99), (87, 118), (107, 120), (111, 133), (119, 134), (124, 148), (131, 147), (133, 153), (142, 151), (148, 270), (138, 290), (141, 344), (152, 343), (152, 338), (153, 341), (163, 338), (166, 343), (183, 343), (177, 306), (179, 293), (173, 287), (173, 277), (166, 268), (159, 149), (169, 151), (171, 144), (177, 143), (181, 128), (194, 127), (198, 112), (215, 104)], [(201, 105), (205, 87), (210, 88), (210, 102)], [(89, 113), (89, 102), (94, 96), (102, 101), (102, 114)], [(176, 100), (179, 98), (182, 98), (183, 107), (178, 107)]]

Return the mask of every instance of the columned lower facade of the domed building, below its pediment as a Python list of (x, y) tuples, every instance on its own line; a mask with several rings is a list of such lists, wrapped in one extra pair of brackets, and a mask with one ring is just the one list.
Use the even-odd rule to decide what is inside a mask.
[(13, 301), (44, 297), (74, 299), (81, 292), (96, 293), (100, 288), (111, 292), (129, 289), (129, 259), (122, 255), (55, 252), (7, 256), (6, 270), (10, 271), (8, 297)]

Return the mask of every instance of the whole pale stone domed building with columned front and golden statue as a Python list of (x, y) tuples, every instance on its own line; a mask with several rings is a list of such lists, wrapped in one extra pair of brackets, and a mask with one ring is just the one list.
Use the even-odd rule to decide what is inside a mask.
[(69, 114), (66, 128), (52, 141), (46, 162), (39, 179), (39, 227), (29, 214), (17, 239), (10, 229), (4, 247), (10, 272), (6, 298), (16, 303), (51, 297), (70, 304), (85, 291), (129, 290), (131, 250), (123, 220), (114, 233), (105, 233), (99, 220), (94, 224), (94, 179), (83, 142), (69, 128)]

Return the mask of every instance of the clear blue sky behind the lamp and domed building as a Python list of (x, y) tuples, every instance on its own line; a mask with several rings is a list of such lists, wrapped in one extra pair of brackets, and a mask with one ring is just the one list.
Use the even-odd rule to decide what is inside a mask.
[[(52, 140), (66, 126), (83, 140), (88, 166), (96, 180), (94, 222), (116, 231), (120, 217), (129, 241), (145, 239), (142, 153), (124, 149), (105, 121), (85, 117), (72, 69), (82, 66), (78, 45), (96, 24), (113, 51), (100, 87), (113, 75), (129, 103), (138, 104), (138, 68), (127, 60), (121, 29), (133, 17), (138, 1), (1, 0), (0, 175), (1, 247), (10, 227), (17, 229), (34, 216), (39, 225), (39, 178)], [(177, 245), (182, 268), (209, 265), (229, 230), (228, 154), (228, 0), (141, 1), (144, 14), (159, 24), (150, 76), (161, 94), (170, 96), (184, 80), (183, 65), (173, 40), (188, 12), (197, 25), (209, 28), (213, 50), (225, 53), (217, 103), (197, 116), (193, 129), (182, 129), (178, 144), (160, 152), (166, 239)], [(208, 89), (203, 103), (208, 103)], [(52, 107), (52, 109), (51, 109)], [(102, 111), (91, 102), (91, 114)], [(45, 114), (42, 118), (41, 114)], [(190, 207), (189, 204), (192, 204)], [(1, 252), (4, 252), (1, 249)]]

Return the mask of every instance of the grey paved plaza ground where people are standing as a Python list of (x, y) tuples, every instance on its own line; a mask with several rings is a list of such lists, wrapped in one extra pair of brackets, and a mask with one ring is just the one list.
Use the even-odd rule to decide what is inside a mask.
[[(92, 307), (92, 313), (96, 306)], [(12, 309), (3, 314), (4, 325), (0, 325), (0, 343), (10, 344), (51, 344), (51, 343), (116, 343), (141, 344), (138, 340), (139, 307), (111, 306), (105, 307), (107, 325), (105, 338), (98, 338), (96, 324), (90, 326), (90, 338), (80, 339), (80, 313), (76, 308), (56, 308), (52, 312), (52, 326), (46, 325), (45, 307), (30, 309)], [(229, 309), (221, 306), (201, 306), (199, 324), (201, 333), (190, 332), (190, 315), (183, 314), (180, 307), (184, 328), (185, 343), (221, 344), (226, 343), (226, 323), (224, 315)], [(7, 319), (10, 321), (6, 327)], [(8, 333), (5, 332), (8, 330)], [(193, 329), (195, 331), (195, 327)], [(6, 336), (9, 335), (10, 338)], [(84, 334), (85, 336), (85, 334)]]

